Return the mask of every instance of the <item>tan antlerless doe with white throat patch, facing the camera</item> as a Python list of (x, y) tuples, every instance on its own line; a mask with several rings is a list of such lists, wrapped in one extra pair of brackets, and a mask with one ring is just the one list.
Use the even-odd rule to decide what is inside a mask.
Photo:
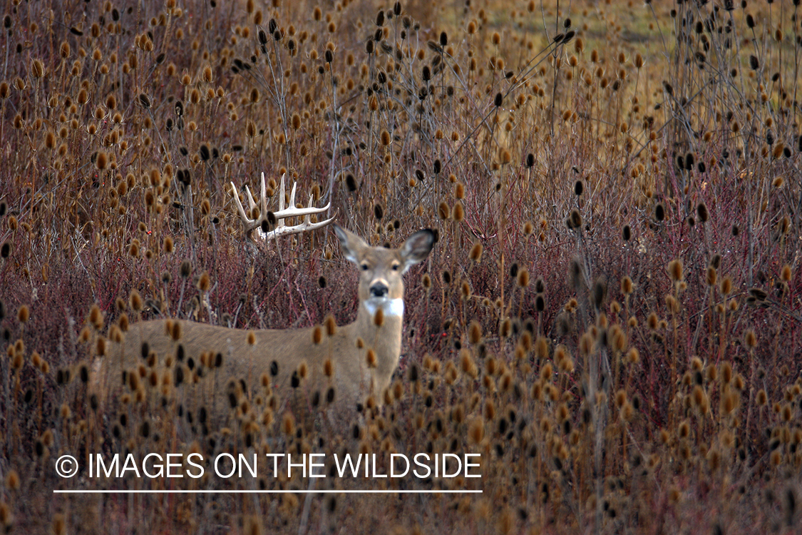
[[(356, 407), (371, 392), (381, 404), (401, 352), (402, 276), (411, 265), (427, 257), (434, 233), (419, 230), (398, 249), (371, 247), (338, 225), (334, 225), (334, 233), (345, 257), (360, 270), (356, 321), (337, 327), (331, 336), (320, 326), (249, 331), (178, 319), (134, 323), (123, 341), (112, 343), (109, 356), (95, 367), (97, 394), (105, 398), (109, 387), (120, 385), (120, 374), (135, 367), (140, 368), (138, 375), (148, 375), (147, 368), (142, 373), (144, 366), (164, 367), (170, 363), (174, 376), (188, 378), (197, 373), (200, 363), (205, 363), (201, 372), (225, 379), (237, 389), (245, 384), (246, 391), (253, 391), (268, 381), (285, 395), (289, 394), (289, 385), (314, 396), (314, 391), (327, 395), (333, 387), (338, 407)], [(194, 372), (188, 371), (190, 359)], [(330, 375), (326, 374), (327, 361), (333, 368)], [(301, 377), (304, 365), (306, 378)], [(125, 377), (122, 375), (122, 379)], [(217, 407), (222, 406), (228, 407), (228, 403), (217, 403)]]

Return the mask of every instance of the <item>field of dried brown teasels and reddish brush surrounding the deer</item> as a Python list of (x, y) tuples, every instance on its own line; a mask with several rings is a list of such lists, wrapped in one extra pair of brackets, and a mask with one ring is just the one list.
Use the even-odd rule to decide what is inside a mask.
[[(2, 526), (798, 533), (799, 2), (433, 3), (6, 3)], [(372, 244), (437, 230), (385, 406), (332, 429), (303, 382), (232, 397), (214, 362), (158, 355), (173, 373), (144, 359), (98, 407), (90, 363), (140, 317), (354, 317), (329, 230), (243, 239), (229, 181), (261, 172), (271, 205), (286, 172)], [(53, 470), (189, 451), (480, 452), (480, 480), (318, 488), (484, 494), (51, 493), (310, 485)]]

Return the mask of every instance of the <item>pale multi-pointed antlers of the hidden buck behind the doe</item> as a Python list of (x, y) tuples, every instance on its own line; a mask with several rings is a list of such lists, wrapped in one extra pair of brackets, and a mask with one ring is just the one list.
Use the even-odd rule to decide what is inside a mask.
[[(242, 203), (240, 202), (240, 197), (237, 195), (237, 187), (234, 183), (231, 183), (232, 187), (232, 194), (234, 197), (234, 201), (237, 203), (237, 211), (240, 213), (240, 219), (242, 220), (242, 225), (245, 227), (245, 236), (250, 237), (254, 241), (257, 238), (253, 237), (251, 234), (254, 230), (257, 231), (257, 236), (261, 241), (267, 241), (274, 237), (279, 236), (287, 236), (290, 234), (299, 234), (302, 232), (306, 232), (307, 230), (314, 230), (314, 229), (322, 229), (326, 225), (329, 225), (331, 221), (334, 221), (334, 217), (330, 219), (326, 219), (326, 221), (321, 221), (319, 223), (312, 223), (310, 221), (310, 215), (313, 213), (323, 213), (329, 209), (329, 205), (331, 203), (326, 204), (323, 208), (314, 208), (312, 205), (312, 196), (309, 197), (309, 205), (306, 208), (295, 208), (295, 186), (298, 185), (297, 183), (293, 183), (293, 189), (290, 192), (290, 205), (284, 206), (284, 176), (282, 175), (281, 185), (279, 186), (278, 190), (278, 211), (277, 212), (269, 212), (267, 209), (267, 195), (265, 194), (265, 173), (261, 173), (261, 207), (259, 211), (259, 219), (251, 219), (248, 217), (248, 213), (253, 213), (253, 209), (256, 207), (256, 201), (253, 199), (253, 195), (250, 193), (250, 189), (248, 186), (245, 186), (245, 193), (248, 197), (248, 213), (245, 213), (245, 209), (242, 207)], [(298, 217), (298, 216), (305, 216), (304, 221), (299, 223), (298, 225), (287, 226), (284, 224), (284, 219), (286, 217)], [(274, 225), (274, 226), (273, 226)], [(271, 230), (270, 228), (273, 227)]]

